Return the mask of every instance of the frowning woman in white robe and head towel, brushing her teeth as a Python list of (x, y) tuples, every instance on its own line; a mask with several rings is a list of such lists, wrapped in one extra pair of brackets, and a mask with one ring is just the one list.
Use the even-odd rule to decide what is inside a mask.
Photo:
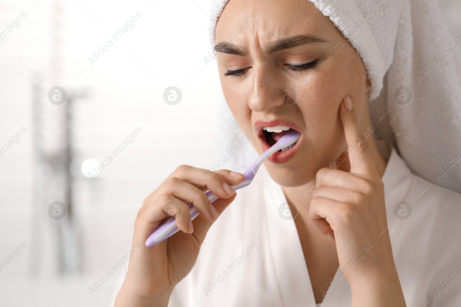
[[(288, 128), (301, 137), (272, 155), (237, 193), (230, 185), (243, 175), (231, 170), (181, 165), (170, 174), (144, 200), (132, 246), (143, 244), (168, 214), (176, 215), (181, 231), (136, 249), (116, 307), (461, 306), (461, 195), (455, 192), (461, 148), (426, 148), (452, 153), (439, 175), (449, 178), (440, 185), (453, 191), (435, 185), (437, 176), (413, 174), (433, 176), (440, 159), (409, 159), (418, 148), (411, 142), (417, 133), (432, 142), (459, 140), (459, 122), (454, 132), (438, 130), (428, 119), (433, 104), (423, 95), (423, 87), (432, 85), (416, 82), (422, 74), (416, 77), (420, 70), (414, 67), (405, 71), (408, 63), (395, 64), (408, 57), (404, 35), (419, 31), (405, 13), (414, 20), (418, 12), (432, 11), (427, 3), (371, 2), (221, 0), (213, 6), (221, 85), (241, 129), (228, 133), (243, 132), (258, 154)], [(407, 53), (418, 58), (424, 51)], [(447, 78), (443, 68), (433, 70), (429, 82)], [(448, 71), (458, 86), (459, 71)], [(421, 89), (414, 90), (413, 104), (405, 96), (408, 87), (398, 89), (410, 84)], [(373, 106), (380, 99), (387, 103), (382, 110)], [(440, 109), (431, 112), (453, 101), (440, 100)], [(379, 126), (386, 108), (390, 120), (383, 122), (390, 122), (395, 139), (376, 141), (378, 127), (386, 135)], [(405, 126), (404, 112), (412, 114), (407, 120), (413, 126)], [(459, 115), (458, 108), (445, 123)], [(207, 190), (220, 199), (210, 204)], [(193, 221), (186, 203), (200, 213)]]

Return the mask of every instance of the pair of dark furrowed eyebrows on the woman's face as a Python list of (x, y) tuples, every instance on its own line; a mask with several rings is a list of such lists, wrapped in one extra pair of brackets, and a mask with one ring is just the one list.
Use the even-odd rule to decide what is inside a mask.
[[(322, 40), (314, 36), (295, 35), (295, 36), (290, 36), (290, 37), (286, 37), (281, 40), (275, 41), (267, 49), (263, 50), (263, 52), (265, 54), (271, 54), (273, 52), (293, 48), (298, 45), (307, 44), (307, 43), (317, 43), (317, 42), (323, 43), (323, 42), (329, 42), (329, 41), (325, 41), (325, 40)], [(241, 46), (237, 46), (228, 41), (222, 41), (216, 44), (214, 46), (214, 50), (217, 52), (224, 52), (228, 54), (248, 56), (248, 53), (245, 50), (243, 50)]]

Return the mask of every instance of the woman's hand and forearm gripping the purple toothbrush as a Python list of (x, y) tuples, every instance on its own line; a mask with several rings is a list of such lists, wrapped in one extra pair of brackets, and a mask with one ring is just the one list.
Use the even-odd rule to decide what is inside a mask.
[[(226, 169), (213, 172), (181, 165), (146, 197), (136, 217), (132, 241), (132, 246), (141, 242), (142, 248), (130, 259), (115, 307), (167, 306), (173, 288), (195, 265), (213, 221), (234, 200), (236, 192), (230, 185), (242, 180), (242, 174)], [(213, 204), (205, 195), (207, 190), (219, 197)], [(200, 214), (193, 222), (187, 203)], [(146, 238), (167, 217), (176, 219), (181, 231), (147, 248)]]

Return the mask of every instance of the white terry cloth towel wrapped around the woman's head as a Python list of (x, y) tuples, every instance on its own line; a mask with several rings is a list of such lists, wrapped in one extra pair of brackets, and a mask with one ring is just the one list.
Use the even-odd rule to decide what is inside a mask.
[[(212, 0), (212, 46), (227, 1)], [(396, 147), (414, 174), (461, 193), (461, 33), (450, 36), (437, 1), (310, 1), (360, 54), (372, 84), (370, 116), (379, 138)], [(218, 160), (246, 140), (224, 96), (220, 118)], [(256, 157), (252, 146), (242, 146), (225, 168), (240, 170)]]

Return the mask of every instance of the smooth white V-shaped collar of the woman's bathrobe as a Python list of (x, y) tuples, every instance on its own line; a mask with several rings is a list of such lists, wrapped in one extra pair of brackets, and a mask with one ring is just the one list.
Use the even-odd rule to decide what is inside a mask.
[[(295, 222), (292, 219), (284, 220), (279, 214), (283, 214), (281, 207), (287, 204), (286, 197), (282, 187), (272, 180), (266, 168), (261, 170), (265, 172), (261, 184), (265, 187), (266, 220), (270, 227), (264, 237), (271, 246), (281, 299), (284, 306), (315, 307), (312, 284)], [(391, 227), (395, 221), (394, 207), (405, 197), (412, 182), (412, 173), (393, 147), (381, 179), (384, 183), (387, 221)], [(339, 272), (338, 267), (335, 274), (337, 278), (330, 284), (322, 307), (350, 306), (350, 285), (346, 278), (339, 277), (342, 276)]]

